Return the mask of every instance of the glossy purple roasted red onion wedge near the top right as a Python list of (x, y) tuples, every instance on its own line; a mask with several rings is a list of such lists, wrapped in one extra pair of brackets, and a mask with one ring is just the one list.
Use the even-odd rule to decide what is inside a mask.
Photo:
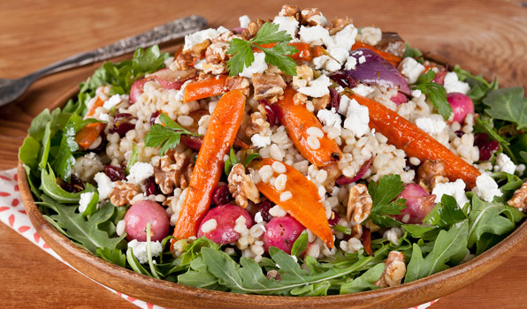
[(403, 94), (410, 94), (410, 88), (401, 73), (386, 59), (371, 49), (355, 49), (350, 53), (355, 57), (355, 70), (344, 71), (354, 79), (366, 84), (398, 88)]

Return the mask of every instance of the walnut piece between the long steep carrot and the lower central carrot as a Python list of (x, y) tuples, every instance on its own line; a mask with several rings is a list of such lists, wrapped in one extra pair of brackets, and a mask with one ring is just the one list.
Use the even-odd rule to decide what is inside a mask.
[(248, 200), (254, 203), (260, 202), (260, 192), (256, 188), (255, 182), (250, 175), (245, 174), (245, 167), (238, 163), (233, 166), (231, 174), (227, 178), (229, 192), (233, 194), (236, 204), (240, 207), (247, 207)]

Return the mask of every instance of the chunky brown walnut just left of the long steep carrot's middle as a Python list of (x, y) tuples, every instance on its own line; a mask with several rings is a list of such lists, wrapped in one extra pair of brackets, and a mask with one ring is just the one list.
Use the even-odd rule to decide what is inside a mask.
[(187, 188), (191, 174), (190, 158), (178, 152), (162, 156), (154, 169), (156, 184), (164, 194), (172, 193), (177, 187)]

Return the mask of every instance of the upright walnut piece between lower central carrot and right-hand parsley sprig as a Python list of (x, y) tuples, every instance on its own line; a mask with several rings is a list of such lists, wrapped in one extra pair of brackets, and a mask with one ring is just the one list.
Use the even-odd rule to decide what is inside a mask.
[(360, 238), (363, 236), (363, 226), (360, 224), (370, 215), (372, 203), (366, 185), (354, 185), (349, 189), (346, 217), (348, 221), (351, 220), (354, 223), (351, 228), (352, 237)]

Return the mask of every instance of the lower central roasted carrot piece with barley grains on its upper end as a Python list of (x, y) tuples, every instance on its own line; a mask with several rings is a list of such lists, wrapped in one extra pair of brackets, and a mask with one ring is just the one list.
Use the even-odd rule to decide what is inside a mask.
[[(279, 161), (266, 158), (249, 163), (249, 167), (260, 170), (265, 165), (271, 166), (274, 162)], [(317, 237), (324, 240), (325, 245), (332, 248), (332, 230), (325, 218), (325, 209), (318, 195), (317, 187), (303, 176), (300, 171), (295, 170), (286, 163), (279, 163), (286, 166), (287, 182), (284, 191), (278, 191), (274, 186), (263, 181), (257, 183), (256, 187), (269, 200), (282, 207), (287, 214), (293, 216), (294, 219), (301, 222), (303, 226), (312, 231)], [(275, 173), (276, 176), (278, 175)], [(287, 194), (286, 192), (291, 192), (292, 197), (287, 200), (281, 199), (280, 196)]]

